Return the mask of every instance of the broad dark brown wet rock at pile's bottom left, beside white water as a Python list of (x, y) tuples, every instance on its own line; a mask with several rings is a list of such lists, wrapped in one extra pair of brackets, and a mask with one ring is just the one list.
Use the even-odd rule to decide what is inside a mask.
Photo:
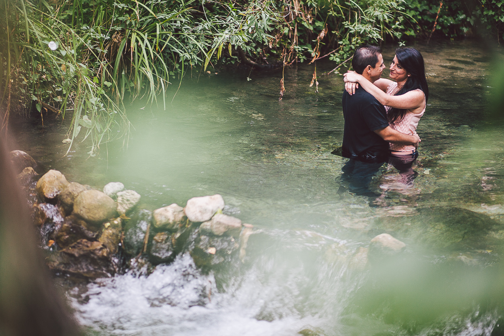
[(92, 279), (111, 277), (116, 273), (116, 265), (109, 258), (105, 246), (86, 239), (50, 254), (47, 265), (54, 272)]

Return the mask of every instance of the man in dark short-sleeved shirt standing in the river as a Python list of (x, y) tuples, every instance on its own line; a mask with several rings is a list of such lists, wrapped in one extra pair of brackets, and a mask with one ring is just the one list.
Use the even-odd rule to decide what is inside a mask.
[[(385, 69), (380, 47), (357, 48), (352, 67), (374, 83)], [(345, 118), (342, 156), (350, 160), (342, 169), (341, 179), (350, 182), (348, 188), (352, 193), (377, 196), (368, 187), (373, 175), (388, 159), (389, 143), (418, 146), (420, 138), (391, 128), (385, 107), (361, 87), (353, 95), (344, 90), (342, 103)]]

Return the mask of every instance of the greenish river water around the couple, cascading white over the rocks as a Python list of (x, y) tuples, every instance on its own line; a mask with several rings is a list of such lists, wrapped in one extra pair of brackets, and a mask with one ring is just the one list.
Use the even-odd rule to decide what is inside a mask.
[[(430, 88), (418, 176), (411, 185), (382, 167), (376, 208), (338, 193), (343, 82), (323, 76), (315, 93), (313, 66), (286, 69), (280, 102), (281, 70), (186, 80), (166, 110), (130, 106), (128, 149), (102, 146), (99, 158), (84, 144), (63, 157), (63, 126), (17, 124), (20, 149), (69, 181), (121, 181), (151, 210), (219, 193), (224, 213), (256, 230), (244, 262), (209, 275), (182, 255), (147, 277), (69, 286), (90, 334), (490, 335), (504, 312), (504, 131), (483, 108), (490, 59), (470, 41), (415, 47)], [(385, 64), (393, 56), (386, 48)], [(381, 233), (406, 251), (364, 266)]]

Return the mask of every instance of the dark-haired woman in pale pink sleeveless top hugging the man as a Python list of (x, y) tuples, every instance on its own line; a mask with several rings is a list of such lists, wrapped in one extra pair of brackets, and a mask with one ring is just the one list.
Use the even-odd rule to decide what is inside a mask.
[[(402, 133), (414, 135), (429, 97), (425, 65), (422, 54), (414, 48), (398, 48), (390, 65), (390, 78), (381, 78), (374, 83), (353, 71), (344, 75), (345, 89), (355, 93), (358, 85), (373, 95), (387, 110), (390, 126)], [(391, 163), (401, 175), (408, 175), (409, 183), (414, 178), (411, 166), (418, 157), (414, 146), (389, 145)], [(407, 176), (404, 176), (407, 177)]]

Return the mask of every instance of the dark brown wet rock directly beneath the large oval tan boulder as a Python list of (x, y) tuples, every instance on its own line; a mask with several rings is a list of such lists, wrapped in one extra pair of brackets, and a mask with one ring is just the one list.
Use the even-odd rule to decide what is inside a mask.
[(96, 240), (99, 232), (88, 228), (87, 223), (76, 215), (65, 218), (59, 230), (57, 230), (54, 240), (60, 248), (66, 248), (75, 242), (86, 239)]

